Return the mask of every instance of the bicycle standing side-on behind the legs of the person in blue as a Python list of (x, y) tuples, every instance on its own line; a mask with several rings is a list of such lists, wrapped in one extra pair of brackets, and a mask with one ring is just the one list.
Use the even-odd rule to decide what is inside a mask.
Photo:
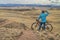
[[(34, 23), (31, 25), (31, 29), (32, 29), (32, 30), (37, 30), (38, 27), (39, 27), (39, 24), (40, 24), (40, 21), (34, 22)], [(41, 27), (40, 30), (43, 30), (42, 27)], [(51, 32), (52, 30), (53, 30), (53, 26), (47, 21), (47, 22), (45, 23), (45, 31)]]

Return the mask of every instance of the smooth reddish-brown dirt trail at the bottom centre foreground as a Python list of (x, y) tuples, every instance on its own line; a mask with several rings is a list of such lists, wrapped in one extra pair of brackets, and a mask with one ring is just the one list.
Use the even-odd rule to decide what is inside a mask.
[(18, 40), (39, 40), (39, 38), (32, 30), (24, 30), (23, 35)]

